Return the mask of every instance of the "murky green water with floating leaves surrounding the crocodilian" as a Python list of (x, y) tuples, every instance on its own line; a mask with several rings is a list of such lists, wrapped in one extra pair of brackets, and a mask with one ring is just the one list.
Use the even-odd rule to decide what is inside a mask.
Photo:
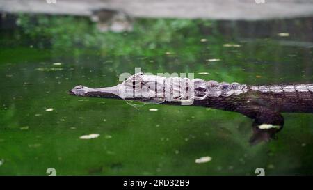
[[(312, 82), (312, 19), (143, 19), (131, 33), (99, 33), (72, 17), (18, 21), (0, 33), (0, 175), (313, 174), (310, 113), (283, 113), (278, 139), (251, 146), (252, 120), (239, 113), (67, 94), (79, 84), (113, 86), (135, 67), (243, 84)], [(79, 138), (87, 134), (100, 136)]]

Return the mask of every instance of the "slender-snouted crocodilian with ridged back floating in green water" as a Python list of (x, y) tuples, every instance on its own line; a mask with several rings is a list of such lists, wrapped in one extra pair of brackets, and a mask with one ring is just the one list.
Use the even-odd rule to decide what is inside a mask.
[(284, 125), (282, 112), (313, 113), (313, 84), (250, 86), (140, 72), (117, 86), (88, 88), (79, 85), (70, 90), (70, 94), (235, 111), (254, 120), (252, 144), (275, 138)]

